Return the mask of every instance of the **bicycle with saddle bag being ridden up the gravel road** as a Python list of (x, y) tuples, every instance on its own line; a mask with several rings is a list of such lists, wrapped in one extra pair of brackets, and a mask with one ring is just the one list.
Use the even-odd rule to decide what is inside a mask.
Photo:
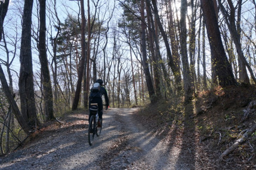
[[(103, 105), (106, 106), (106, 105)], [(107, 110), (107, 109), (106, 109)], [(89, 127), (88, 127), (88, 142), (91, 146), (93, 144), (93, 139), (96, 134), (96, 136), (100, 136), (101, 129), (102, 129), (102, 119), (101, 119), (101, 127), (97, 127), (98, 122), (98, 105), (97, 103), (91, 103), (90, 112), (92, 113), (92, 116), (90, 117), (89, 121)]]

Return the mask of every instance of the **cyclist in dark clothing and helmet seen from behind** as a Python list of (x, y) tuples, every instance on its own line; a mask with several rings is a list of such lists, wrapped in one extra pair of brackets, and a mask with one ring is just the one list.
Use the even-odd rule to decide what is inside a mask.
[[(106, 110), (109, 106), (109, 100), (108, 100), (108, 93), (105, 87), (103, 87), (103, 80), (102, 79), (97, 79), (95, 83), (100, 84), (100, 91), (99, 92), (93, 92), (93, 90), (90, 90), (90, 96), (89, 96), (89, 108), (91, 103), (97, 103), (98, 104), (98, 114), (99, 114), (99, 120), (97, 122), (97, 126), (101, 127), (101, 119), (102, 119), (102, 110), (103, 110), (103, 104), (102, 104), (102, 95), (104, 94), (105, 100), (106, 100)], [(92, 116), (92, 113), (89, 115), (89, 120), (90, 117)]]

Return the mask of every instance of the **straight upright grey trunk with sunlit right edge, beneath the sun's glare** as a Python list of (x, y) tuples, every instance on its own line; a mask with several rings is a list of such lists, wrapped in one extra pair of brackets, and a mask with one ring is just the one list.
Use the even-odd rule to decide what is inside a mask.
[(189, 70), (188, 53), (187, 53), (186, 13), (187, 13), (187, 0), (181, 0), (181, 19), (180, 19), (181, 58), (182, 58), (182, 66), (183, 66), (183, 82), (184, 82), (185, 100), (188, 101), (192, 98), (193, 91), (191, 88), (191, 75)]

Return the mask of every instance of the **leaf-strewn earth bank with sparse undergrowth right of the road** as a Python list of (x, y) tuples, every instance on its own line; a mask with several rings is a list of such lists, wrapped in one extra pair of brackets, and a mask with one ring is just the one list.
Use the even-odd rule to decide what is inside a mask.
[(204, 161), (200, 160), (204, 165), (251, 169), (256, 168), (256, 134), (224, 158), (221, 164), (216, 165), (215, 161), (256, 123), (255, 113), (241, 122), (243, 110), (252, 100), (256, 100), (255, 86), (216, 87), (197, 93), (197, 97), (186, 104), (182, 97), (177, 96), (159, 101), (142, 108), (138, 115), (139, 121), (170, 144), (178, 137), (182, 140), (193, 139), (190, 142), (196, 145), (195, 152), (207, 155)]

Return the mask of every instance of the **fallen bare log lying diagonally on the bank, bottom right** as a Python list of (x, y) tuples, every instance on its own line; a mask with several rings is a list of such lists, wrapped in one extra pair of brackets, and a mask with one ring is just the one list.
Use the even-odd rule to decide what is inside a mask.
[(221, 162), (223, 160), (223, 156), (227, 156), (231, 154), (240, 144), (244, 143), (248, 137), (251, 136), (252, 133), (254, 133), (256, 130), (256, 123), (250, 127), (249, 130), (247, 130), (243, 136), (238, 139), (231, 147), (226, 149), (221, 156), (218, 158), (217, 162)]

